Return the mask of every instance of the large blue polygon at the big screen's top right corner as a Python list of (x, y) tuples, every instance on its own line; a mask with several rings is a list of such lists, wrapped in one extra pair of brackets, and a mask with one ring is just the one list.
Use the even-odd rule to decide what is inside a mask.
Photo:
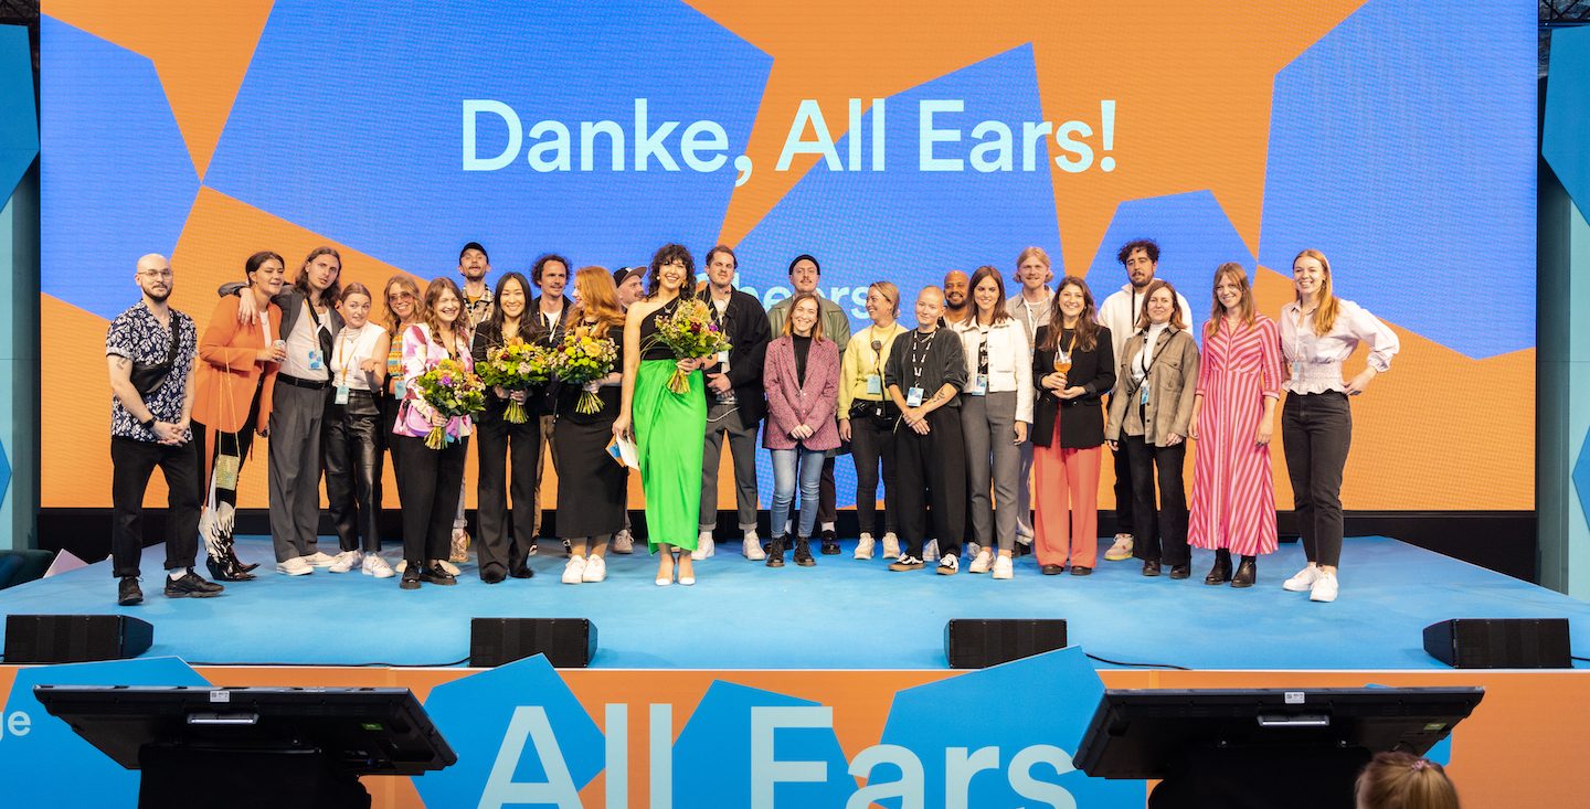
[(1259, 264), (1317, 248), (1380, 318), (1471, 358), (1533, 346), (1536, 37), (1526, 3), (1369, 0), (1286, 65)]

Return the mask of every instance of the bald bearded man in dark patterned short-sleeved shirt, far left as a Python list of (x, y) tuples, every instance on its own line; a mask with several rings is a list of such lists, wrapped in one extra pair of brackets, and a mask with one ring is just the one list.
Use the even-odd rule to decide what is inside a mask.
[(172, 265), (154, 253), (134, 273), (142, 299), (105, 332), (110, 364), (111, 574), (116, 602), (143, 602), (138, 563), (143, 556), (143, 491), (161, 467), (165, 475), (165, 596), (210, 598), (223, 588), (194, 572), (199, 555), (199, 456), (192, 448), (194, 354), (199, 331), (192, 318), (170, 308)]

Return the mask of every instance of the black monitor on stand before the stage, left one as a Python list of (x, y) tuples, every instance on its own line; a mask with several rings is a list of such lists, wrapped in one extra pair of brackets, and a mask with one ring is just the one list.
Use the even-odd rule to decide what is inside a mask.
[(420, 776), (458, 760), (407, 688), (38, 685), (33, 695), (143, 771), (140, 807), (367, 807), (359, 776)]

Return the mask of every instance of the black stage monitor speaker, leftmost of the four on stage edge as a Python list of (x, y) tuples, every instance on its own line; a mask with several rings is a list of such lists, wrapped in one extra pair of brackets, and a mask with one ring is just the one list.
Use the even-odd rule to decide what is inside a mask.
[(154, 628), (127, 615), (6, 615), (6, 663), (84, 663), (135, 658)]

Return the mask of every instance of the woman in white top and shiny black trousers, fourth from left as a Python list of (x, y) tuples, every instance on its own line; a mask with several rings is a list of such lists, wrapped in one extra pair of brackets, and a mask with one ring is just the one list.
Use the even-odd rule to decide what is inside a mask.
[[(377, 394), (386, 377), (386, 329), (370, 323), (370, 291), (361, 283), (342, 288), (343, 327), (331, 350), (332, 405), (326, 410), (326, 502), (337, 526), (331, 572), (355, 567), (377, 579), (393, 575), (380, 558), (380, 513), (375, 475), (380, 469), (382, 407)], [(359, 537), (363, 534), (363, 544)]]

